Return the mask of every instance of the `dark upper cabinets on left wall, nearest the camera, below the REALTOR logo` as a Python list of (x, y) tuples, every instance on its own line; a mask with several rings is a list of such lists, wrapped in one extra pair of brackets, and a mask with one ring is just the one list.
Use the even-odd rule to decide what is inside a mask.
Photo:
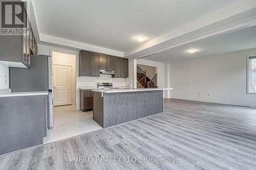
[(29, 68), (30, 55), (37, 55), (37, 45), (28, 18), (25, 4), (22, 3), (23, 29), (28, 31), (24, 31), (23, 35), (0, 36), (0, 61), (4, 61), (3, 64), (10, 67)]

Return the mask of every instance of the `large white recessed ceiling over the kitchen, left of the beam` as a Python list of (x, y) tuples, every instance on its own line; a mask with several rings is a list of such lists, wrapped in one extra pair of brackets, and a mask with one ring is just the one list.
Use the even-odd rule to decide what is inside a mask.
[[(236, 2), (237, 0), (33, 0), (39, 34), (120, 52), (131, 50)], [(146, 41), (136, 41), (137, 36), (145, 36)]]

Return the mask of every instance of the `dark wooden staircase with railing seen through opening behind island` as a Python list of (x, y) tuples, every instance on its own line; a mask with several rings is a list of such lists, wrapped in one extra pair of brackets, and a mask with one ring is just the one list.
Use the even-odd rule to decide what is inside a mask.
[(146, 71), (137, 65), (137, 88), (157, 88), (157, 74), (150, 79), (146, 76)]

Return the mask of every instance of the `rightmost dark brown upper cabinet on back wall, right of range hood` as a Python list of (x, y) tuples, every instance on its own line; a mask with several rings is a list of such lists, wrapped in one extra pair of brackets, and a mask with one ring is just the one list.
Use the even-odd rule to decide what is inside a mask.
[(115, 78), (127, 78), (129, 75), (128, 60), (115, 58)]

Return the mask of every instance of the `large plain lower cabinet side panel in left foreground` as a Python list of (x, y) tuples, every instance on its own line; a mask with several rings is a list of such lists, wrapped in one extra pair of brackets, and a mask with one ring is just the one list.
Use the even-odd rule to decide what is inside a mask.
[(42, 144), (47, 95), (0, 98), (0, 155)]

